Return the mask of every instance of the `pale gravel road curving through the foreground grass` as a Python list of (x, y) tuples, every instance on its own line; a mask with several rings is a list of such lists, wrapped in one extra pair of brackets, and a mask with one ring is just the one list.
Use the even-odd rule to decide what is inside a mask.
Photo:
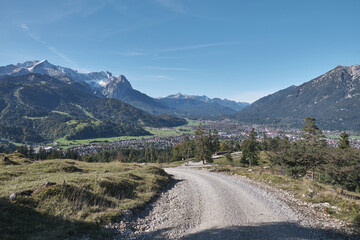
[(245, 178), (191, 167), (165, 169), (172, 186), (122, 239), (344, 239), (314, 227), (276, 194)]

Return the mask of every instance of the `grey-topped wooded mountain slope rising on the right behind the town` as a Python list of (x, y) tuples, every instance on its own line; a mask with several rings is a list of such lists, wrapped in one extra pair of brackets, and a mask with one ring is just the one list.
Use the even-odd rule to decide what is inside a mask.
[(259, 99), (238, 114), (245, 122), (300, 127), (314, 117), (324, 129), (360, 131), (360, 66), (337, 66), (298, 87)]

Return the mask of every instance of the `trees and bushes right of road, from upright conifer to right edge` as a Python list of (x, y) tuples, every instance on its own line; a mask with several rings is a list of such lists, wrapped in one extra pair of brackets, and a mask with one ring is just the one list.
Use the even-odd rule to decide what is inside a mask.
[(252, 129), (241, 146), (241, 161), (249, 166), (257, 165), (259, 152), (265, 151), (273, 170), (359, 192), (360, 150), (351, 147), (349, 134), (340, 134), (338, 147), (329, 146), (316, 119), (309, 117), (302, 132), (302, 138), (294, 142), (287, 137), (267, 138), (266, 135), (258, 141)]

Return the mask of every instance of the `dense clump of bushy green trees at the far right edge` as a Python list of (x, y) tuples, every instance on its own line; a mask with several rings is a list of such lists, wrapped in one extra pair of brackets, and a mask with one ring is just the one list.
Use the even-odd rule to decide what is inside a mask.
[(278, 166), (293, 178), (311, 174), (311, 179), (360, 191), (360, 150), (350, 146), (349, 134), (343, 132), (338, 147), (325, 141), (314, 118), (306, 118), (303, 139), (288, 142), (270, 155), (273, 166)]

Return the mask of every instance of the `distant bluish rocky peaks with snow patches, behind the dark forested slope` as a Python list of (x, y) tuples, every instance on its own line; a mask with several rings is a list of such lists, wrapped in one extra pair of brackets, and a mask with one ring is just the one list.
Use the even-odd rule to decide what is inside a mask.
[(119, 99), (151, 114), (167, 113), (183, 117), (209, 117), (232, 114), (248, 105), (226, 99), (209, 99), (206, 96), (182, 95), (183, 98), (168, 96), (155, 99), (133, 89), (124, 75), (116, 77), (109, 71), (79, 73), (71, 68), (55, 66), (47, 60), (28, 61), (0, 67), (0, 78), (28, 73), (45, 74), (65, 82), (75, 81), (81, 83), (85, 90), (91, 91), (94, 95)]

